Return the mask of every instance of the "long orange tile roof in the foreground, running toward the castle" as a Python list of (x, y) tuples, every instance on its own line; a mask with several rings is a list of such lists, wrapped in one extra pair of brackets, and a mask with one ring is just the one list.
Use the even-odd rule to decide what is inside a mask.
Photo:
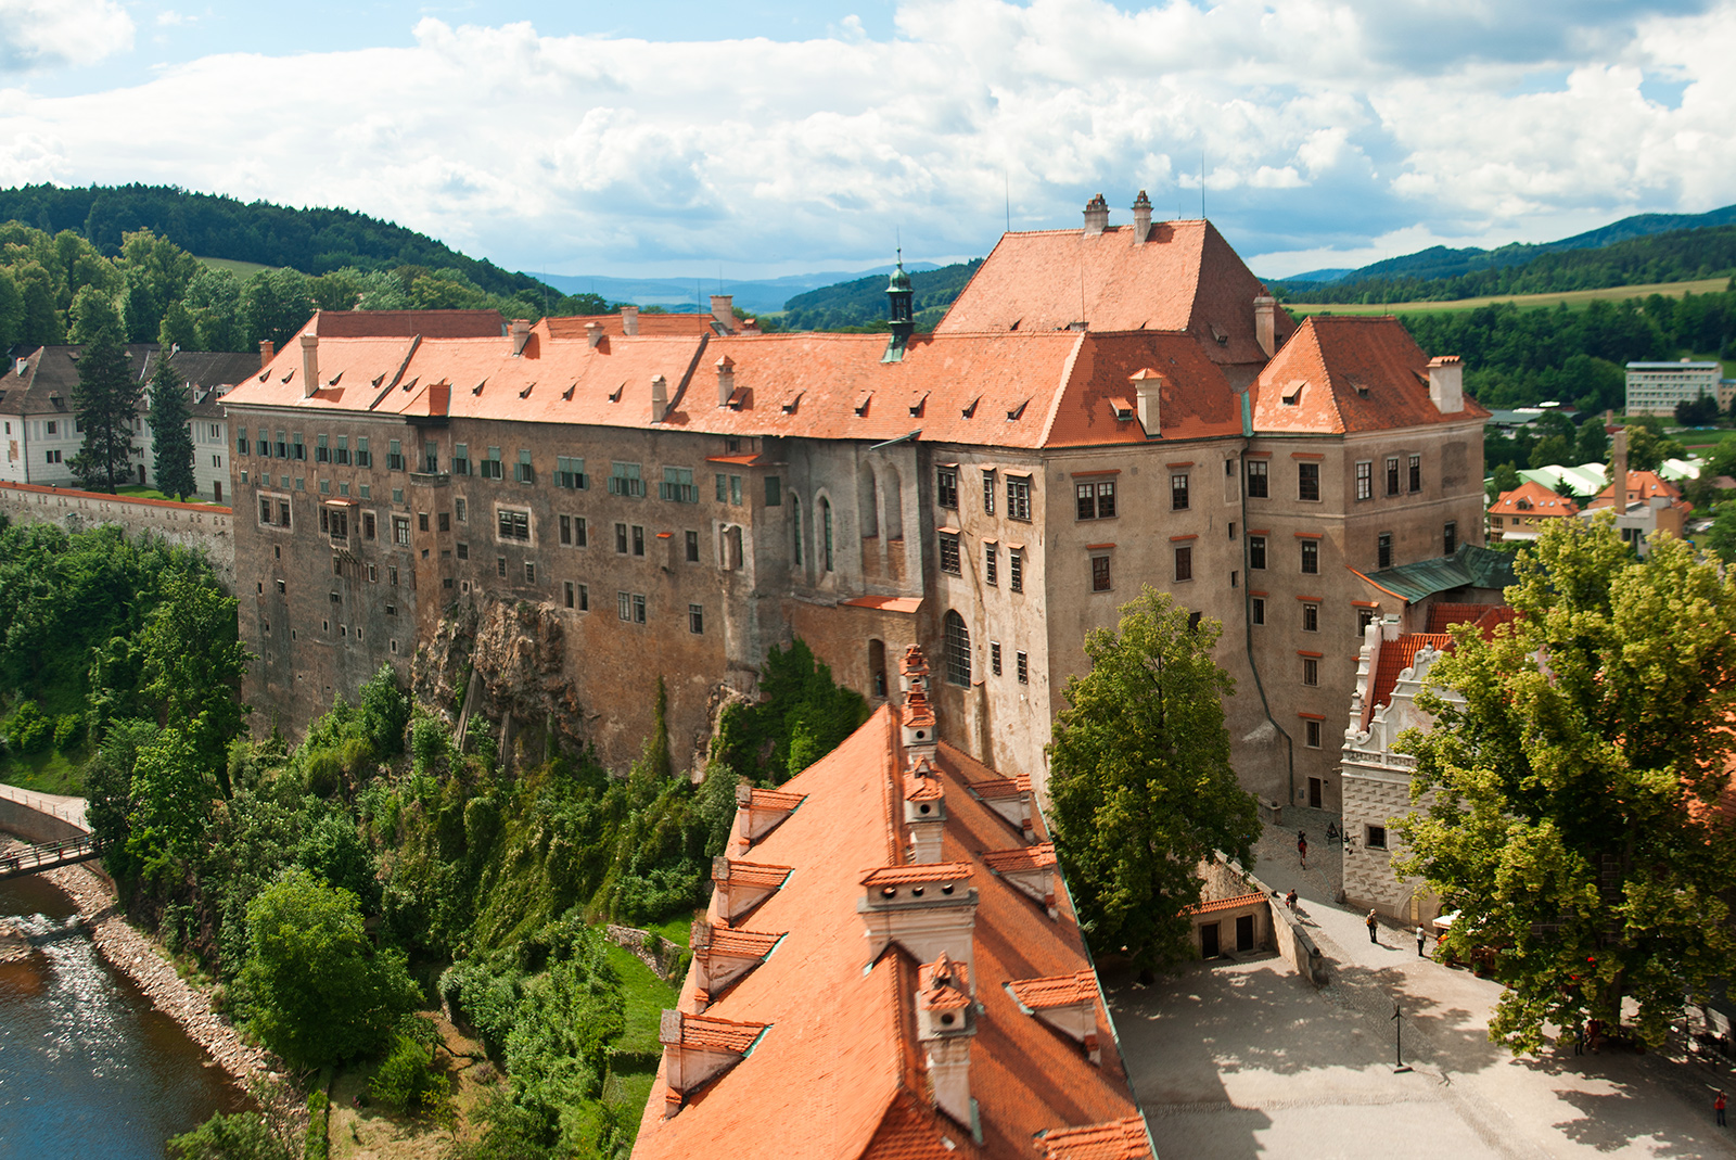
[[(766, 1031), (740, 1063), (689, 1092), (670, 1118), (660, 1068), (635, 1160), (1031, 1160), (1043, 1155), (1045, 1134), (1066, 1144), (1069, 1129), (1127, 1122), (1135, 1127), (1113, 1132), (1130, 1148), (1121, 1155), (1147, 1155), (1102, 1004), (1095, 1004), (1102, 1064), (1094, 1066), (1082, 1044), (1021, 1011), (1005, 986), (1073, 979), (1068, 986), (1076, 992), (1078, 978), (1090, 972), (1059, 875), (1059, 917), (1050, 919), (1012, 882), (990, 873), (984, 851), (1009, 849), (1021, 835), (969, 787), (1002, 778), (944, 741), (932, 764), (946, 790), (943, 863), (903, 863), (910, 761), (891, 707), (785, 783), (785, 792), (806, 795), (799, 811), (750, 853), (731, 849), (731, 856), (795, 868), (753, 913), (757, 929), (788, 934), (705, 1011), (713, 1019), (766, 1025)], [(950, 879), (977, 891), (969, 978), (948, 969), (937, 981), (934, 962), (918, 962), (896, 941), (868, 962), (870, 941), (856, 905), (889, 877)], [(951, 1004), (958, 1000), (953, 992), (972, 986), (981, 1011), (970, 1045), (970, 1096), (981, 1144), (970, 1125), (936, 1110), (917, 1040), (920, 995)], [(684, 1011), (693, 1011), (693, 990), (689, 976)]]

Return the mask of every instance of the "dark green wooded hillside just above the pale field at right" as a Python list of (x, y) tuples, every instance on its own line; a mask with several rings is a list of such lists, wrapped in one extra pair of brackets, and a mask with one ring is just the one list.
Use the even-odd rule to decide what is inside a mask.
[[(1503, 247), (1474, 254), (1481, 257), (1469, 260), (1463, 250), (1436, 247), (1401, 259), (1403, 269), (1366, 267), (1332, 283), (1276, 281), (1272, 292), (1288, 302), (1448, 302), (1691, 281), (1736, 271), (1736, 226), (1677, 229), (1601, 248)], [(1481, 269), (1436, 274), (1467, 264)]]

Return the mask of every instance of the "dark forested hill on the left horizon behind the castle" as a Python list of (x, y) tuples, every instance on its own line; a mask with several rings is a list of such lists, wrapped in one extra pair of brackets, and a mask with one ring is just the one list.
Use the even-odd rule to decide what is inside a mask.
[(484, 293), (561, 297), (529, 274), (503, 271), (427, 234), (351, 210), (292, 210), (174, 186), (21, 186), (0, 189), (0, 222), (5, 221), (50, 234), (69, 229), (104, 257), (116, 257), (128, 233), (149, 229), (200, 257), (288, 266), (304, 274), (425, 266), (455, 269)]

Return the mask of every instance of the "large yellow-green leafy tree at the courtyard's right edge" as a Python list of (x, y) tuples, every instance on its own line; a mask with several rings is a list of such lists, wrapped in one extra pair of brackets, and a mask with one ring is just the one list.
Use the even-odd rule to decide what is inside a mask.
[(1489, 1037), (1519, 1051), (1621, 1019), (1661, 1044), (1684, 988), (1736, 971), (1726, 898), (1736, 834), (1715, 809), (1736, 707), (1736, 577), (1674, 537), (1634, 559), (1613, 517), (1552, 521), (1519, 556), (1517, 623), (1457, 634), (1406, 733), (1410, 854), (1458, 912), (1448, 945), (1495, 945), (1507, 990)]

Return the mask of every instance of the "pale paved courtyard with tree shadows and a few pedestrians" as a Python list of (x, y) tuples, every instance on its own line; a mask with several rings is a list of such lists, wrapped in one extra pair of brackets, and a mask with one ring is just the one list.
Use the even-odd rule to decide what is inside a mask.
[[(1104, 978), (1160, 1157), (1736, 1157), (1712, 1117), (1713, 1085), (1736, 1092), (1727, 1068), (1670, 1051), (1514, 1058), (1489, 1044), (1500, 985), (1418, 957), (1391, 926), (1370, 943), (1364, 915), (1332, 901), (1340, 847), (1323, 856), (1316, 835), (1332, 816), (1311, 813), (1285, 809), (1285, 825), (1267, 827), (1253, 872), (1297, 889), (1326, 986), (1276, 955), (1198, 964), (1149, 988)], [(1410, 1071), (1394, 1068), (1394, 1004)]]

